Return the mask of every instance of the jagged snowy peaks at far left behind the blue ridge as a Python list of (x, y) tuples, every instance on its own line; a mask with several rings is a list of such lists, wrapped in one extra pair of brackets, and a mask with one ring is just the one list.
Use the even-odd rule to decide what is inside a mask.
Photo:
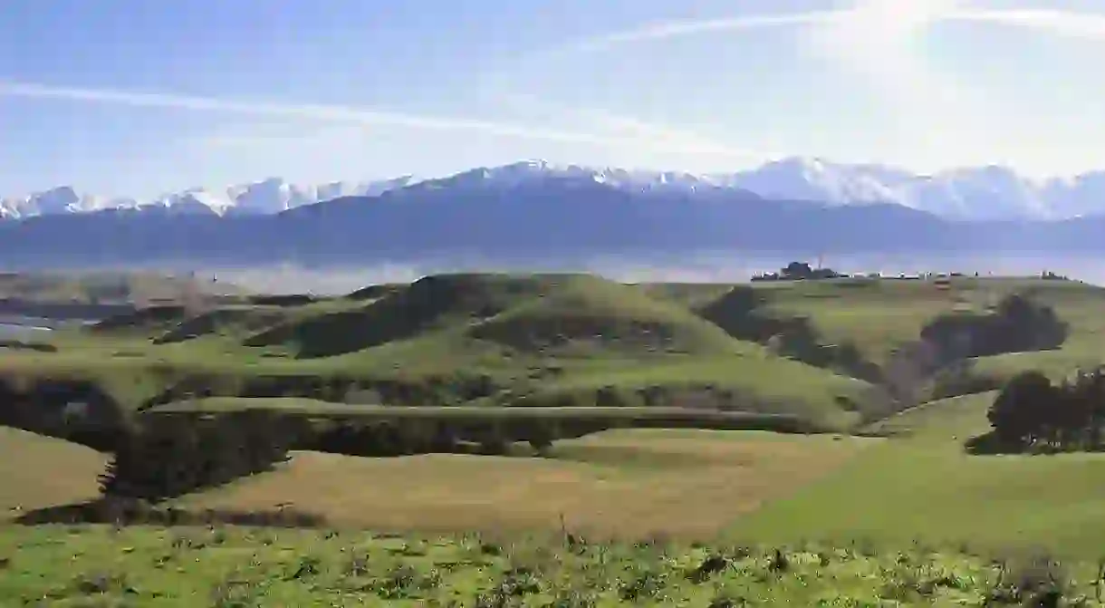
[(84, 195), (71, 186), (61, 186), (24, 197), (0, 198), (0, 218), (23, 219), (108, 209), (218, 216), (271, 214), (339, 197), (378, 196), (414, 181), (413, 177), (404, 176), (382, 181), (335, 181), (318, 186), (297, 186), (280, 178), (271, 178), (227, 188), (190, 188), (145, 201)]

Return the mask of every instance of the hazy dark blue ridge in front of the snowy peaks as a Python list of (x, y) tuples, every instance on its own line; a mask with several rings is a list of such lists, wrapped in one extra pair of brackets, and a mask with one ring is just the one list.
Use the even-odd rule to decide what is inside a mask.
[(588, 174), (476, 172), (276, 214), (114, 209), (0, 221), (0, 266), (367, 264), (430, 256), (1105, 252), (1105, 218), (953, 221), (894, 203), (767, 199), (732, 187), (630, 189)]

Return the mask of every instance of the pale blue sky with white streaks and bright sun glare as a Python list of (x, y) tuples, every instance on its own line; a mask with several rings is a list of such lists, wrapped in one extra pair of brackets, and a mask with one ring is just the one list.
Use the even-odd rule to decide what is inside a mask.
[(533, 158), (1105, 169), (1101, 0), (3, 4), (0, 196)]

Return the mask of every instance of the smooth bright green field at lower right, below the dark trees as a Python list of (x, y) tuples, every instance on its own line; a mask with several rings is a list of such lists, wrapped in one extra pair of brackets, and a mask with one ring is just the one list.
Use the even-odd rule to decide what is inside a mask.
[(975, 549), (1095, 558), (1105, 543), (1105, 455), (978, 457), (964, 441), (988, 429), (992, 394), (923, 406), (882, 424), (908, 430), (818, 483), (738, 520), (741, 538), (920, 539)]

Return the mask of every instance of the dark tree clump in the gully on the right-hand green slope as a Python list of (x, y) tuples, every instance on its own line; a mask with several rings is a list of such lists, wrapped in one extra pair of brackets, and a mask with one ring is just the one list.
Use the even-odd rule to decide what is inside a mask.
[(1059, 348), (1069, 334), (1067, 324), (1045, 304), (1011, 294), (989, 313), (951, 313), (936, 317), (920, 332), (922, 340), (936, 348), (937, 360), (950, 363), (968, 357)]

